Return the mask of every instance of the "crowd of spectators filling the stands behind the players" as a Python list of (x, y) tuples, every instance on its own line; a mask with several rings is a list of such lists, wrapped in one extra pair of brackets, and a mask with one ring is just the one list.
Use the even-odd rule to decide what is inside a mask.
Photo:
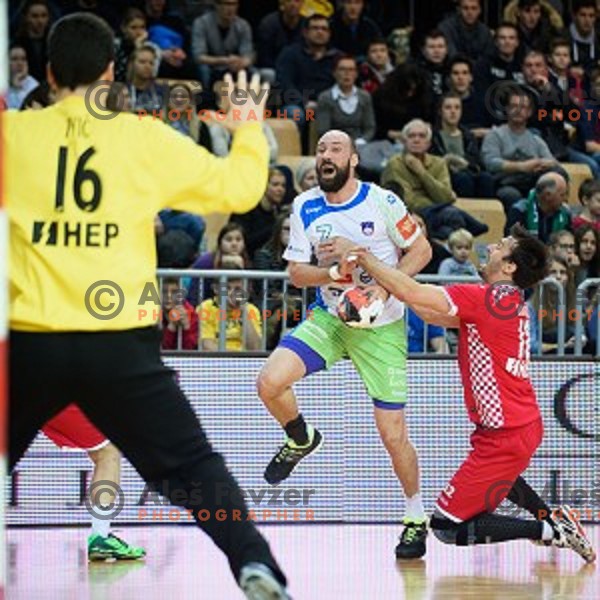
[[(600, 8), (595, 0), (492, 2), (484, 22), (479, 0), (436, 2), (435, 18), (417, 18), (410, 28), (407, 4), (11, 2), (8, 108), (52, 103), (46, 82), (48, 31), (62, 15), (94, 12), (115, 30), (116, 84), (110, 98), (118, 110), (162, 110), (169, 126), (225, 156), (229, 132), (217, 119), (199, 115), (223, 108), (225, 73), (259, 72), (271, 83), (270, 109), (294, 115), (304, 154), (311, 150), (311, 127), (317, 135), (342, 129), (358, 148), (359, 175), (403, 198), (434, 249), (425, 273), (477, 275), (471, 262), (474, 244), (488, 227), (457, 208), (456, 200), (498, 199), (507, 232), (520, 223), (548, 244), (551, 276), (566, 290), (565, 312), (572, 311), (576, 286), (600, 277)], [(496, 18), (499, 14), (502, 18)], [(165, 80), (169, 86), (161, 84)], [(170, 109), (179, 117), (170, 119)], [(276, 136), (268, 124), (264, 129), (272, 168), (259, 205), (232, 215), (214, 249), (205, 247), (200, 217), (163, 211), (156, 219), (160, 267), (285, 270), (291, 201), (316, 184), (317, 174), (310, 157), (295, 173), (278, 164)], [(590, 178), (579, 189), (580, 206), (567, 204), (564, 163), (589, 168)], [(218, 290), (210, 281), (186, 283), (185, 303), (166, 300), (165, 314), (175, 310), (179, 317), (165, 317), (164, 345), (216, 349)], [(174, 285), (164, 282), (167, 290)], [(240, 285), (241, 279), (230, 282), (232, 290)], [(272, 285), (269, 309), (287, 307), (292, 314), (299, 293), (283, 294)], [(560, 311), (540, 309), (542, 303), (558, 307), (558, 299), (551, 288), (543, 295), (538, 292), (528, 302), (534, 327), (542, 327), (541, 351), (553, 352)], [(234, 314), (232, 294), (227, 297)], [(598, 292), (592, 288), (583, 315), (588, 351), (598, 343), (597, 307)], [(269, 322), (252, 302), (244, 310), (252, 318), (227, 317), (227, 349), (259, 349), (263, 328), (267, 347), (273, 347), (281, 319)], [(286, 319), (293, 326), (289, 315)], [(574, 346), (572, 325), (567, 318), (567, 349)], [(424, 335), (412, 314), (409, 332), (413, 351), (429, 345), (444, 352), (449, 342), (452, 346), (443, 330), (429, 328)], [(532, 335), (534, 349), (539, 349), (537, 340)]]

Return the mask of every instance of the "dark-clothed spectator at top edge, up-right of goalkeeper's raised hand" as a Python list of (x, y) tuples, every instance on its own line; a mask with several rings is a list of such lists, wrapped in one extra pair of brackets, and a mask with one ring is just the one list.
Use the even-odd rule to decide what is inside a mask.
[(302, 2), (280, 0), (279, 10), (269, 13), (260, 22), (256, 36), (257, 65), (263, 73), (265, 69), (270, 69), (274, 77), (275, 63), (281, 51), (286, 46), (302, 42)]

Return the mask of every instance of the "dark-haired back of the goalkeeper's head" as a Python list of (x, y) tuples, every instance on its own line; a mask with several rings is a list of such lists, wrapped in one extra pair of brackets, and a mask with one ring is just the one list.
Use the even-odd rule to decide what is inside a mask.
[(74, 13), (50, 30), (48, 62), (59, 88), (74, 90), (97, 81), (113, 60), (113, 32), (100, 17)]

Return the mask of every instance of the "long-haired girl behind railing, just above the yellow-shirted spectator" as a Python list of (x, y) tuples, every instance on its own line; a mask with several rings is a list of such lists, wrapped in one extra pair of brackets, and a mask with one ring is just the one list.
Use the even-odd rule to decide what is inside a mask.
[[(217, 236), (217, 248), (214, 252), (205, 252), (195, 260), (191, 268), (199, 270), (220, 269), (222, 264), (235, 264), (240, 269), (251, 267), (250, 257), (246, 250), (246, 234), (239, 223), (227, 223)], [(200, 281), (193, 278), (186, 281), (185, 287), (189, 290), (188, 300), (197, 306), (201, 299), (207, 298), (212, 285), (211, 279)]]

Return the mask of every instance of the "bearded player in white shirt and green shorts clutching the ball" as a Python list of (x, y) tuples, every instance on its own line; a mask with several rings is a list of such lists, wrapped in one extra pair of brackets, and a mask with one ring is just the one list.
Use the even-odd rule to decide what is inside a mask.
[[(265, 479), (277, 485), (322, 442), (320, 432), (299, 413), (292, 385), (349, 357), (373, 400), (377, 429), (406, 495), (405, 528), (396, 556), (417, 558), (425, 554), (427, 523), (417, 453), (403, 410), (404, 305), (389, 298), (372, 328), (349, 327), (337, 315), (338, 297), (348, 286), (368, 286), (372, 279), (359, 270), (345, 279), (336, 263), (350, 247), (369, 244), (390, 268), (412, 276), (429, 262), (431, 247), (398, 196), (355, 177), (357, 164), (351, 138), (341, 131), (327, 132), (317, 145), (319, 185), (294, 200), (284, 257), (292, 284), (317, 287), (317, 301), (311, 318), (281, 340), (258, 378), (259, 396), (286, 434), (285, 443), (266, 468)], [(318, 266), (311, 264), (314, 255)]]

